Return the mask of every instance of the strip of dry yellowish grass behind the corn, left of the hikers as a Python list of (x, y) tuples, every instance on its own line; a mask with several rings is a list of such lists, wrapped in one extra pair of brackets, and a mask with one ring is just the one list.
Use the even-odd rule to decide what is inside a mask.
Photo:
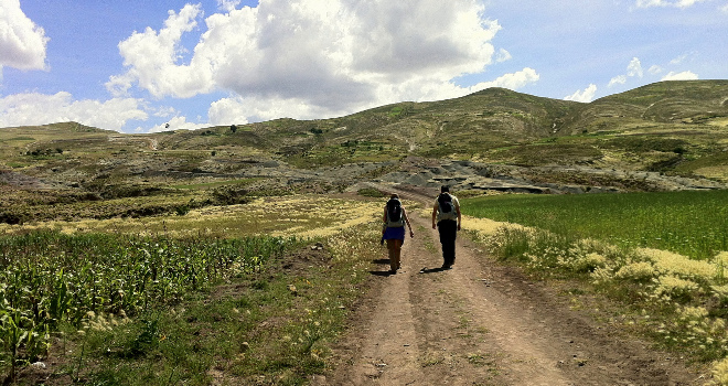
[(326, 237), (378, 215), (379, 203), (329, 199), (321, 195), (263, 197), (249, 204), (208, 206), (184, 216), (160, 215), (141, 218), (50, 221), (24, 225), (0, 224), (0, 233), (34, 229), (165, 234), (170, 236), (244, 237), (248, 235)]

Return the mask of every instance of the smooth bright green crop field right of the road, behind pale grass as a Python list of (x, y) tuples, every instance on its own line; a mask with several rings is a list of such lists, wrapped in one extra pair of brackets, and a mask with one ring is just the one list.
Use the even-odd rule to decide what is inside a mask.
[(728, 191), (484, 196), (465, 200), (463, 212), (698, 259), (728, 250)]

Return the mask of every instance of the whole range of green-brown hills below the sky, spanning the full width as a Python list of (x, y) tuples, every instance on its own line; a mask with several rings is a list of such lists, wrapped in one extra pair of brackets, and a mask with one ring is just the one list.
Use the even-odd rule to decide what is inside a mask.
[(372, 180), (550, 193), (721, 189), (727, 149), (728, 81), (656, 83), (590, 104), (489, 88), (196, 131), (4, 128), (0, 189), (55, 197), (40, 202), (328, 192)]

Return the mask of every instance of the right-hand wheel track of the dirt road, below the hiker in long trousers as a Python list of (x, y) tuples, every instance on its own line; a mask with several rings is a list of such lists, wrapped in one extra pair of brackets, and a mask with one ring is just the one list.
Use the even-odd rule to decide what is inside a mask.
[[(437, 240), (436, 235), (432, 237)], [(544, 353), (537, 332), (524, 325), (531, 325), (531, 321), (523, 310), (503, 307), (510, 300), (489, 287), (492, 279), (486, 278), (462, 243), (458, 255), (457, 268), (417, 276), (417, 292), (424, 294), (419, 302), (431, 303), (432, 308), (419, 319), (436, 326), (426, 340), (441, 342), (440, 350), (448, 353), (428, 369), (430, 378), (460, 385), (475, 379), (502, 383), (506, 378), (520, 385), (569, 384)], [(439, 310), (440, 304), (445, 312)]]

